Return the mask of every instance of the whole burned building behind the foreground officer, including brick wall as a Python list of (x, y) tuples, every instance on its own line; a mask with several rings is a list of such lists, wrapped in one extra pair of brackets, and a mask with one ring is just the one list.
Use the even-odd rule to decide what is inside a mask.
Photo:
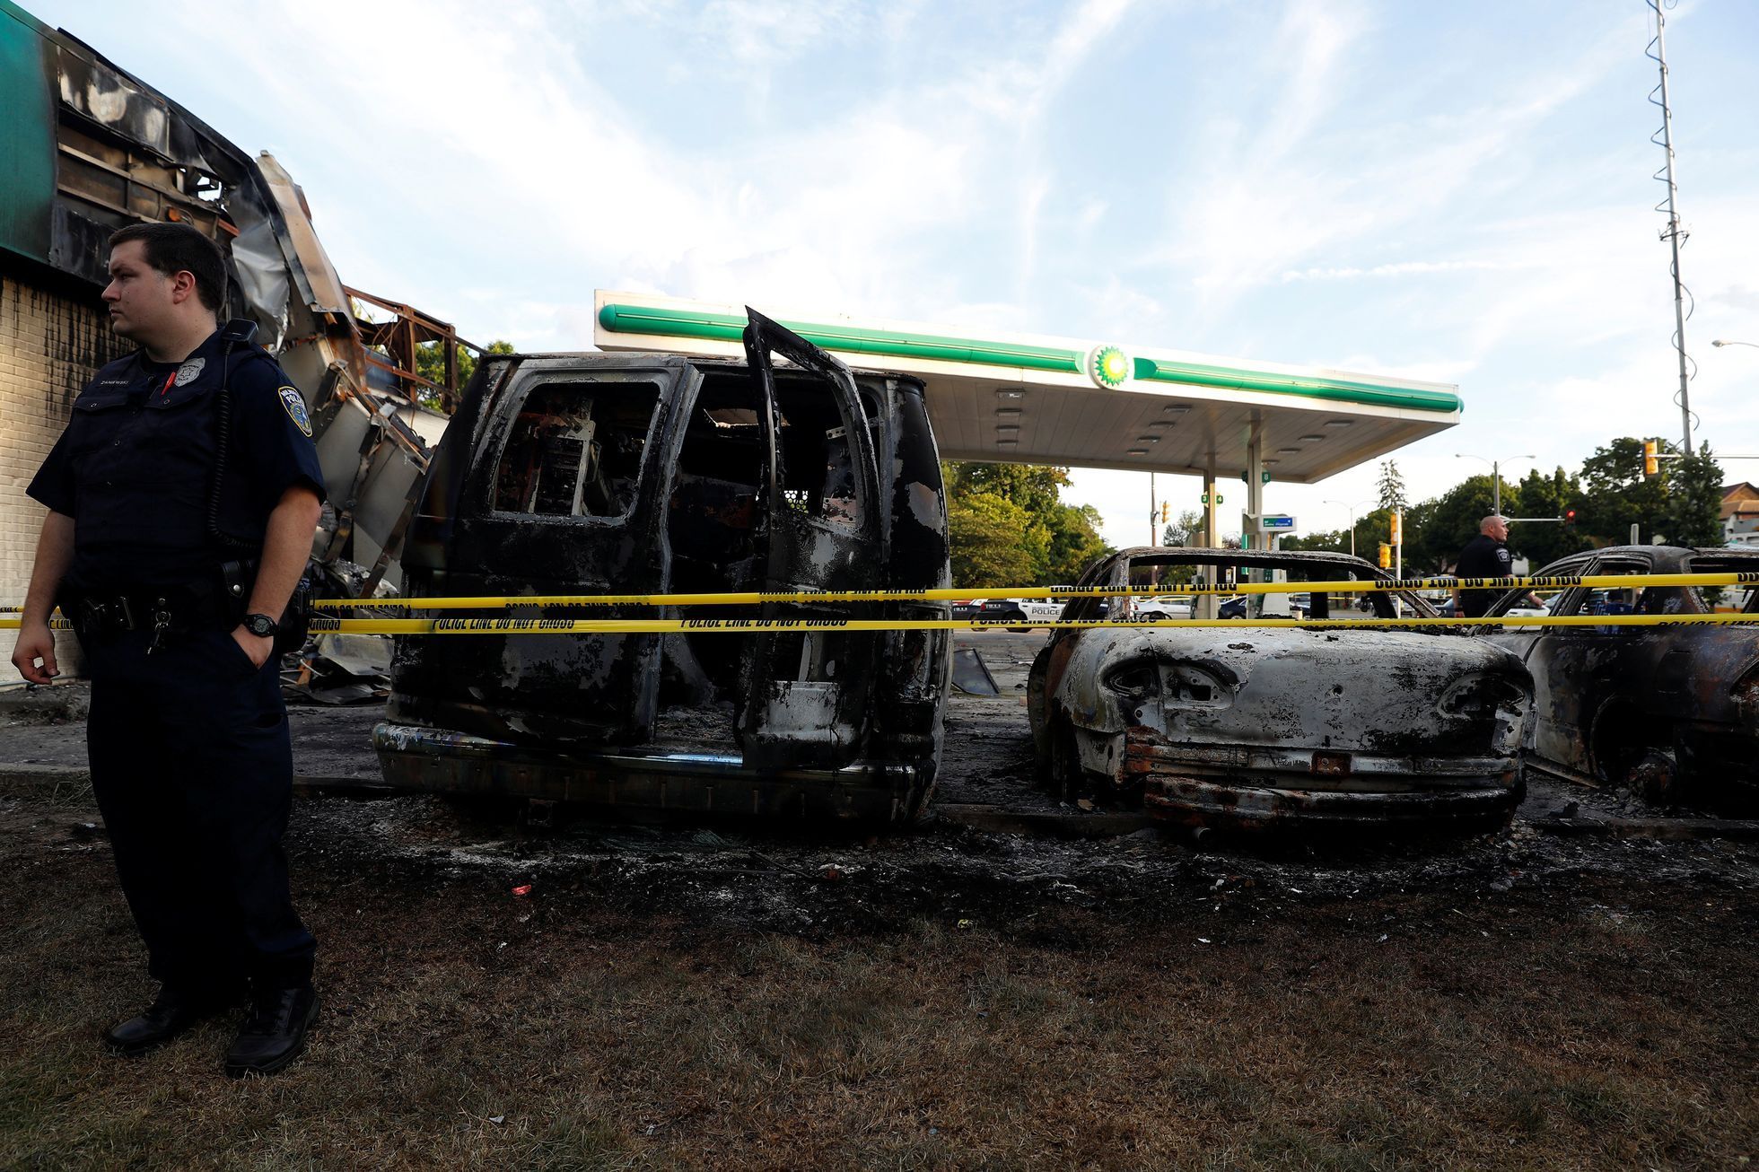
[[(315, 556), (394, 574), (396, 546), (456, 378), (413, 371), (436, 343), (457, 370), (456, 331), (343, 285), (304, 194), (267, 153), (252, 157), (74, 35), (0, 0), (0, 590), (21, 598), (42, 509), (25, 496), (74, 396), (132, 347), (99, 292), (109, 236), (190, 223), (227, 257), (222, 317), (250, 319), (317, 421), (336, 507)], [(387, 320), (357, 315), (376, 304)], [(419, 394), (420, 392), (420, 394)], [(355, 575), (357, 579), (361, 575)]]

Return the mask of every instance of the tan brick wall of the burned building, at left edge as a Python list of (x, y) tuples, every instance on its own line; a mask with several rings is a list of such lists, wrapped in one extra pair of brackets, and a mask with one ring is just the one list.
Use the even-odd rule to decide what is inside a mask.
[[(25, 600), (42, 528), (42, 505), (25, 489), (67, 426), (74, 396), (127, 350), (95, 292), (74, 297), (0, 273), (0, 604)], [(11, 632), (0, 632), (0, 648), (11, 656)], [(58, 656), (65, 670), (65, 648)], [(0, 679), (14, 678), (4, 660), (0, 669)]]

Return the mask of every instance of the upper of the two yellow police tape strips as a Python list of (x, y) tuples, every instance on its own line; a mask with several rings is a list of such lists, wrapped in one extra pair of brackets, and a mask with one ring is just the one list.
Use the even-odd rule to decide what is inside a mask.
[(322, 598), (320, 611), (373, 607), (383, 611), (489, 611), (501, 607), (716, 607), (769, 602), (964, 602), (967, 598), (1152, 598), (1194, 595), (1351, 595), (1384, 590), (1625, 590), (1639, 586), (1752, 586), (1759, 572), (1740, 574), (1553, 574), (1537, 577), (1402, 577), (1383, 582), (1237, 582), (1215, 586), (1015, 586), (992, 590), (823, 590), (823, 591), (730, 591), (695, 595), (470, 595), (447, 598)]

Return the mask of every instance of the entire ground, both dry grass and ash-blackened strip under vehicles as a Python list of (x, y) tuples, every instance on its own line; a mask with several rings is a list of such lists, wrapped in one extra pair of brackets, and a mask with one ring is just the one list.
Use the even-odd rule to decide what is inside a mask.
[(1038, 641), (978, 639), (1003, 695), (953, 702), (938, 813), (885, 836), (584, 811), (536, 831), (505, 804), (371, 795), (376, 713), (294, 709), (297, 769), (324, 783), (287, 846), (325, 1008), (260, 1086), (220, 1073), (225, 1021), (139, 1063), (95, 1045), (150, 982), (77, 706), (7, 697), (0, 1165), (1759, 1154), (1759, 846), (1560, 834), (1578, 792), (1434, 843), (1126, 829), (1033, 788), (1015, 685)]

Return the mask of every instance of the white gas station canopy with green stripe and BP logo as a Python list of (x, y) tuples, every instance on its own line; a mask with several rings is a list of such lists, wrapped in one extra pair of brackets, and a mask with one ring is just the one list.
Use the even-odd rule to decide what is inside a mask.
[[(595, 310), (602, 350), (742, 354), (742, 306), (596, 290)], [(943, 459), (1214, 479), (1245, 475), (1256, 454), (1266, 479), (1310, 484), (1460, 422), (1449, 384), (827, 313), (777, 320), (857, 370), (922, 378)]]

